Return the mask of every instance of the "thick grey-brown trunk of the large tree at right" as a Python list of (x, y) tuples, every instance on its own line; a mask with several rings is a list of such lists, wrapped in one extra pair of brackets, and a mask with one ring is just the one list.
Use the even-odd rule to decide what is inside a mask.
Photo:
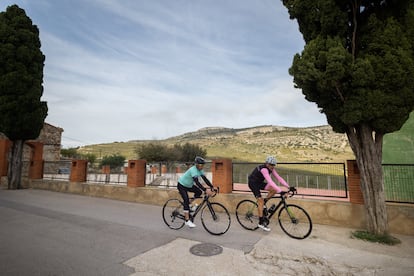
[(361, 174), (367, 230), (376, 235), (384, 235), (388, 232), (381, 164), (384, 135), (375, 133), (368, 124), (349, 127), (347, 135)]

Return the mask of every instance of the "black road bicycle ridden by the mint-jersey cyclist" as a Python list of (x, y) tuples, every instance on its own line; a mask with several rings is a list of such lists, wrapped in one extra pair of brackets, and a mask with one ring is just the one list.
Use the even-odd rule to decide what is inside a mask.
[[(203, 201), (195, 211), (190, 210), (190, 219), (194, 221), (197, 214), (201, 212), (204, 229), (212, 235), (223, 235), (230, 228), (230, 213), (222, 204), (210, 201), (211, 197), (217, 195), (218, 189), (214, 192), (212, 196), (204, 194)], [(162, 218), (169, 228), (181, 229), (185, 224), (184, 203), (177, 198), (167, 200), (162, 208)]]

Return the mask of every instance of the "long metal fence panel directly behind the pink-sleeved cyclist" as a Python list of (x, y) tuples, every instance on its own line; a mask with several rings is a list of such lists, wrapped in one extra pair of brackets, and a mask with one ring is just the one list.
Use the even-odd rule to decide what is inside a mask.
[[(233, 190), (250, 191), (248, 176), (262, 163), (233, 163)], [(344, 163), (278, 163), (278, 174), (303, 196), (347, 198)]]

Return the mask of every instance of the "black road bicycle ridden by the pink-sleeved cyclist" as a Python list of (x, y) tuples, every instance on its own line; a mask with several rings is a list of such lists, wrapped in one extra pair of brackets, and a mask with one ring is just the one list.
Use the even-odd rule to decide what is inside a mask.
[[(288, 192), (283, 191), (280, 196), (272, 197), (271, 199), (280, 199), (277, 205), (272, 204), (270, 208), (267, 208), (266, 204), (271, 199), (265, 202), (263, 205), (264, 222), (269, 224), (270, 219), (279, 210), (278, 220), (283, 232), (294, 239), (305, 239), (312, 232), (312, 220), (305, 209), (295, 204), (288, 204), (286, 194), (292, 197), (297, 194), (296, 188), (291, 187)], [(236, 207), (236, 218), (243, 228), (256, 230), (259, 224), (257, 202), (250, 199), (240, 201)]]

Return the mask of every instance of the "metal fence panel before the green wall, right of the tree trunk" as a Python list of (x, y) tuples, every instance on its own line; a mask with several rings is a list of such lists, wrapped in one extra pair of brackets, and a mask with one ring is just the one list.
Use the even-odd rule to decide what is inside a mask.
[(414, 203), (414, 164), (383, 164), (385, 199)]

